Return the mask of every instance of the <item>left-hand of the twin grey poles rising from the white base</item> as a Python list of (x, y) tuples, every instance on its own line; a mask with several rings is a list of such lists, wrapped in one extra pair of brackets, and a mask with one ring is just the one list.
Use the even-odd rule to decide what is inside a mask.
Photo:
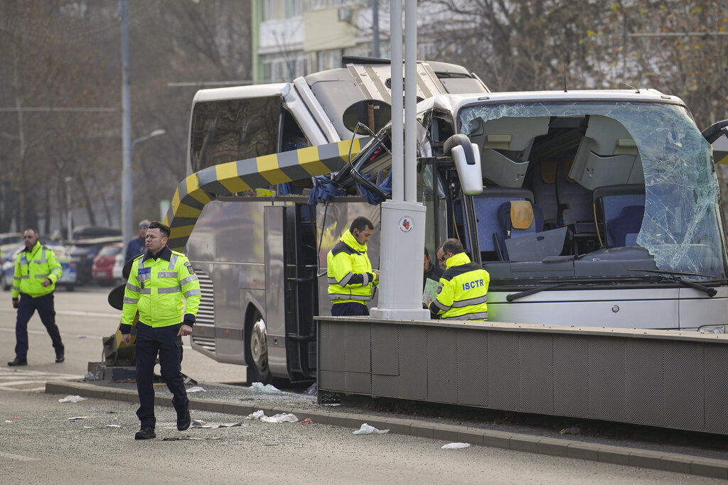
[(402, 0), (389, 4), (389, 28), (392, 44), (392, 200), (403, 201), (404, 189), (404, 121), (402, 77)]

